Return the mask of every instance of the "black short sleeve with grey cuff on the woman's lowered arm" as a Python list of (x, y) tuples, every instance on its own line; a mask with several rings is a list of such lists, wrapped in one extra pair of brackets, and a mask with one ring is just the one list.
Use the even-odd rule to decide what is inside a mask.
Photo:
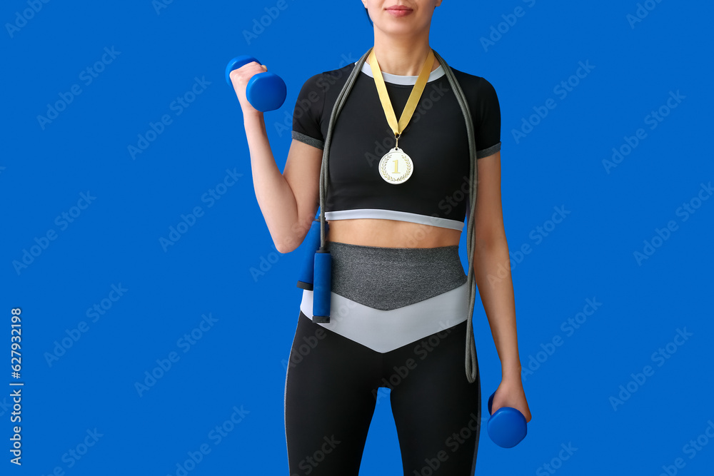
[(501, 151), (501, 106), (493, 85), (481, 78), (476, 93), (476, 158)]

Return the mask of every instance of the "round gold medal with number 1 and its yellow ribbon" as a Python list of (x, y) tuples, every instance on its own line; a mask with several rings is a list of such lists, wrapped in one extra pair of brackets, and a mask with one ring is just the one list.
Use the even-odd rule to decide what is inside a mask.
[(434, 64), (434, 52), (429, 51), (426, 61), (424, 61), (424, 66), (421, 68), (416, 83), (409, 94), (409, 98), (406, 101), (406, 106), (402, 111), (401, 117), (397, 122), (396, 114), (392, 108), (392, 103), (389, 100), (389, 95), (387, 93), (387, 88), (384, 85), (384, 79), (382, 78), (382, 71), (379, 69), (379, 64), (377, 63), (377, 58), (374, 54), (374, 49), (369, 54), (369, 65), (372, 69), (372, 76), (374, 76), (374, 83), (377, 87), (377, 92), (379, 93), (379, 100), (382, 103), (382, 108), (387, 118), (387, 122), (394, 132), (394, 139), (396, 144), (390, 151), (388, 151), (379, 161), (379, 175), (387, 183), (404, 183), (411, 177), (414, 171), (414, 162), (401, 148), (399, 148), (399, 136), (401, 132), (406, 128), (411, 116), (413, 116), (416, 110), (416, 105), (421, 98), (421, 93), (423, 93), (426, 87), (426, 81), (428, 80), (429, 74), (431, 73), (431, 68)]

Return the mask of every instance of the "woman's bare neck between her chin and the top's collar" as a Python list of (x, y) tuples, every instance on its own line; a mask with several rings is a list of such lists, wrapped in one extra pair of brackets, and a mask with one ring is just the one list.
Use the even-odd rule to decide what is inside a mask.
[[(418, 76), (431, 51), (428, 34), (421, 38), (395, 39), (381, 34), (377, 29), (374, 32), (373, 48), (380, 71), (400, 76)], [(438, 61), (434, 59), (431, 71), (438, 66)]]

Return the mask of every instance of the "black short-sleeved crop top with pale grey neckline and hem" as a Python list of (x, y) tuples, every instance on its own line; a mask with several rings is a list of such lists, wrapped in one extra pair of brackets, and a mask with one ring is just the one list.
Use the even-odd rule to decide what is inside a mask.
[[(292, 138), (324, 148), (330, 114), (355, 64), (325, 71), (303, 84), (293, 112)], [(496, 90), (480, 76), (451, 68), (476, 129), (476, 158), (501, 150), (501, 108)], [(400, 118), (417, 76), (382, 73)], [(461, 231), (468, 208), (466, 122), (441, 65), (431, 71), (420, 101), (399, 137), (414, 168), (408, 181), (387, 183), (378, 171), (395, 145), (365, 61), (333, 126), (325, 219), (384, 218)]]

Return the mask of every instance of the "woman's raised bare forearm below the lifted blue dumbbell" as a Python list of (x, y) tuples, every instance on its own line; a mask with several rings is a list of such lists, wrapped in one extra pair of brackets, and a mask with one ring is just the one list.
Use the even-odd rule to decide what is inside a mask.
[(278, 168), (268, 142), (263, 113), (243, 113), (248, 148), (251, 153), (253, 188), (268, 231), (280, 253), (297, 248), (301, 227), (295, 195)]

